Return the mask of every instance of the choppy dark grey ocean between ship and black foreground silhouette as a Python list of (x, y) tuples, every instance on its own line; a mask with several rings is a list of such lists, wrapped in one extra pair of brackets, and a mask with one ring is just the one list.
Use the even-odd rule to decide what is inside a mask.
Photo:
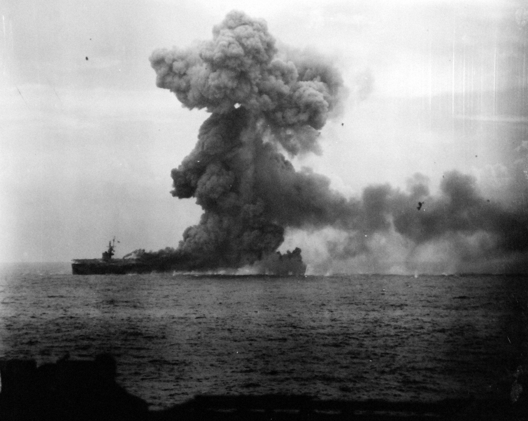
[(71, 275), (4, 265), (0, 358), (111, 352), (159, 409), (197, 394), (437, 400), (501, 393), (526, 277)]

